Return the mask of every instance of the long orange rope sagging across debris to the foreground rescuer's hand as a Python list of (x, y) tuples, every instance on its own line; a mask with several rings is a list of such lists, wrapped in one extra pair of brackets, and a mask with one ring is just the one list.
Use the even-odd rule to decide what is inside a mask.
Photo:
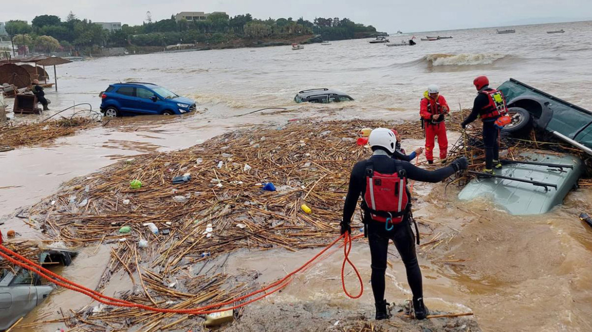
[[(21, 268), (27, 269), (31, 272), (35, 272), (36, 274), (40, 275), (42, 278), (47, 279), (47, 281), (53, 282), (54, 284), (56, 284), (60, 287), (85, 294), (88, 297), (91, 297), (92, 299), (94, 299), (95, 301), (101, 302), (102, 304), (113, 305), (116, 307), (140, 308), (143, 310), (155, 311), (157, 313), (202, 315), (202, 314), (218, 313), (220, 311), (233, 310), (236, 308), (244, 307), (247, 304), (261, 300), (262, 298), (265, 298), (268, 295), (274, 294), (276, 291), (279, 291), (280, 289), (289, 285), (289, 283), (292, 281), (292, 276), (294, 276), (295, 274), (297, 274), (300, 271), (303, 271), (303, 269), (305, 269), (305, 268), (307, 268), (307, 266), (311, 265), (311, 263), (313, 263), (318, 257), (320, 257), (325, 252), (327, 252), (327, 250), (329, 250), (332, 246), (334, 246), (342, 238), (343, 238), (343, 253), (345, 255), (345, 258), (343, 259), (342, 270), (341, 270), (343, 291), (350, 298), (359, 298), (363, 294), (362, 277), (360, 276), (358, 269), (356, 269), (356, 266), (353, 265), (352, 261), (349, 260), (349, 252), (352, 249), (352, 241), (355, 239), (358, 239), (359, 237), (362, 237), (362, 236), (363, 235), (351, 237), (351, 235), (349, 233), (345, 233), (345, 234), (337, 237), (337, 239), (333, 240), (333, 242), (329, 243), (328, 246), (326, 246), (323, 250), (318, 252), (317, 255), (315, 255), (313, 258), (311, 258), (306, 263), (304, 263), (303, 266), (300, 266), (300, 268), (295, 269), (294, 271), (292, 271), (288, 275), (284, 276), (284, 278), (281, 278), (278, 281), (272, 282), (272, 284), (270, 284), (267, 287), (264, 287), (262, 289), (259, 289), (258, 291), (251, 292), (250, 294), (243, 295), (242, 297), (238, 297), (238, 298), (226, 301), (226, 302), (221, 302), (218, 304), (210, 304), (210, 305), (205, 305), (204, 307), (190, 308), (190, 309), (166, 309), (166, 308), (150, 307), (149, 305), (137, 304), (137, 303), (133, 303), (130, 301), (125, 301), (125, 300), (120, 300), (117, 298), (108, 297), (108, 296), (101, 294), (97, 291), (83, 287), (82, 285), (78, 285), (75, 282), (69, 281), (68, 279), (63, 278), (62, 276), (54, 274), (52, 271), (49, 271), (46, 268), (43, 268), (42, 266), (38, 265), (37, 263), (30, 261), (29, 259), (25, 258), (24, 256), (21, 256), (18, 253), (15, 253), (12, 250), (10, 250), (2, 245), (0, 245), (0, 257), (7, 259), (7, 261), (12, 262), (15, 265), (21, 266)], [(20, 259), (21, 262), (17, 261), (16, 259), (12, 258), (9, 255), (12, 255), (12, 256)], [(346, 262), (349, 263), (350, 266), (352, 266), (353, 271), (356, 272), (356, 276), (358, 276), (358, 281), (360, 282), (360, 292), (356, 296), (350, 295), (345, 287), (345, 273), (344, 272), (345, 272), (345, 263)], [(51, 276), (53, 276), (54, 278), (57, 278), (58, 280), (52, 279)], [(246, 300), (247, 298), (253, 297), (253, 295), (257, 295), (262, 292), (265, 292), (265, 294), (260, 295), (259, 297), (253, 298), (252, 300), (243, 302), (241, 304), (234, 305), (232, 307), (220, 308), (220, 307), (223, 307), (224, 305), (230, 305), (230, 304), (233, 304), (234, 302)], [(212, 308), (220, 308), (220, 309), (211, 310)]]

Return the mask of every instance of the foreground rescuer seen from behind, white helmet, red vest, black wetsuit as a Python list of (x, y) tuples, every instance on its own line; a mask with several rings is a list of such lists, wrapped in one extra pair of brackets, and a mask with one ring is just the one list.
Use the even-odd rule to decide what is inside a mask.
[[(466, 158), (452, 162), (448, 167), (426, 171), (409, 162), (395, 160), (397, 139), (386, 128), (374, 129), (368, 139), (374, 154), (368, 160), (358, 162), (349, 180), (348, 196), (343, 207), (341, 233), (351, 233), (350, 220), (362, 195), (363, 222), (368, 236), (372, 260), (372, 292), (376, 305), (376, 319), (388, 316), (388, 303), (384, 299), (385, 271), (387, 269), (388, 242), (395, 243), (407, 270), (407, 281), (413, 292), (415, 317), (426, 318), (427, 308), (423, 303), (422, 272), (419, 269), (411, 230), (411, 197), (407, 180), (436, 183), (456, 171), (465, 170)], [(416, 225), (417, 235), (417, 225)]]

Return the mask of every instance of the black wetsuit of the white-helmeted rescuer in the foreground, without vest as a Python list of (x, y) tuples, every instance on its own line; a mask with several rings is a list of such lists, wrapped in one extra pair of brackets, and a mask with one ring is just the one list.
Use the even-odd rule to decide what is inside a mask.
[[(409, 162), (394, 160), (385, 154), (375, 154), (369, 159), (374, 165), (374, 170), (382, 174), (394, 174), (397, 169), (406, 171), (408, 180), (436, 183), (454, 174), (452, 166), (443, 167), (435, 171), (426, 171), (415, 167)], [(349, 224), (360, 195), (366, 191), (366, 167), (367, 161), (358, 162), (352, 170), (349, 180), (348, 196), (343, 207), (343, 223)], [(409, 191), (407, 191), (409, 193)], [(364, 213), (364, 222), (368, 225), (368, 240), (370, 255), (372, 257), (372, 292), (375, 302), (384, 300), (385, 281), (384, 274), (387, 269), (388, 240), (395, 243), (401, 259), (407, 270), (407, 281), (411, 287), (414, 298), (422, 298), (422, 272), (417, 263), (414, 235), (411, 230), (409, 216), (405, 216), (403, 222), (395, 224), (392, 230), (385, 229), (385, 223), (370, 219), (368, 213)]]

